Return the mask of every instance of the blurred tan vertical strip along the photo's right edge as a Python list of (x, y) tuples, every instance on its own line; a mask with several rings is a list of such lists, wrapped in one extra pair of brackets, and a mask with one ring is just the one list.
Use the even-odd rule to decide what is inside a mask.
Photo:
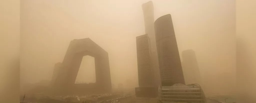
[(237, 0), (237, 80), (238, 102), (256, 102), (256, 1)]

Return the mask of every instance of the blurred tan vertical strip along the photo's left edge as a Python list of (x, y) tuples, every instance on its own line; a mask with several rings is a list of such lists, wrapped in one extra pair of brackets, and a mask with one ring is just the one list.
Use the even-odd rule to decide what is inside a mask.
[(0, 101), (19, 102), (20, 6), (0, 1)]

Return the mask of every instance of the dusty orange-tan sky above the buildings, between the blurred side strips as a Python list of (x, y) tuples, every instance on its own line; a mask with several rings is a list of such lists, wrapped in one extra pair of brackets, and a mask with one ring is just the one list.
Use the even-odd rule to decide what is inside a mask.
[[(172, 15), (180, 55), (187, 49), (196, 52), (205, 85), (216, 92), (232, 91), (228, 86), (235, 79), (235, 1), (152, 1), (155, 20)], [(137, 87), (136, 36), (145, 34), (141, 5), (146, 2), (23, 0), (21, 83), (50, 80), (69, 42), (89, 37), (109, 53), (112, 83), (130, 80)]]

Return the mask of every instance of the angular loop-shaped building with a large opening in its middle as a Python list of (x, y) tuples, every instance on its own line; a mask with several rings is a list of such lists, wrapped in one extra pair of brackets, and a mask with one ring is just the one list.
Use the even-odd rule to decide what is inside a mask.
[[(82, 58), (86, 55), (95, 58), (96, 82), (75, 84)], [(81, 94), (89, 91), (90, 93), (111, 92), (108, 52), (89, 38), (72, 40), (60, 66), (54, 87), (60, 94), (78, 94), (78, 92)]]

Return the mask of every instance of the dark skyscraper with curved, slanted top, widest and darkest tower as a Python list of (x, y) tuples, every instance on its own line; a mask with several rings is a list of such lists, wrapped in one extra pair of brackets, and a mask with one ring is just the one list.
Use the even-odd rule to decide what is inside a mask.
[(162, 86), (185, 84), (170, 14), (155, 21), (156, 47)]

